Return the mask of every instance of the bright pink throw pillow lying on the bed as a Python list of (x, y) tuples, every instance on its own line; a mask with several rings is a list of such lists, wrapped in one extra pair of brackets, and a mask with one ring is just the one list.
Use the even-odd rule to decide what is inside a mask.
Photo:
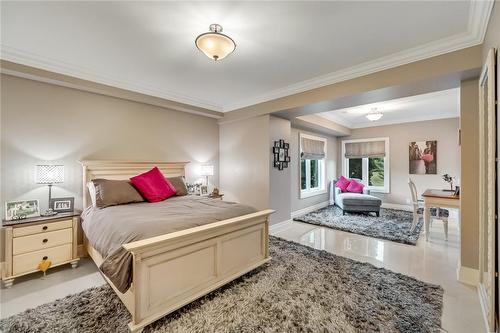
[(172, 183), (163, 177), (158, 167), (130, 178), (130, 182), (149, 202), (163, 201), (177, 192)]

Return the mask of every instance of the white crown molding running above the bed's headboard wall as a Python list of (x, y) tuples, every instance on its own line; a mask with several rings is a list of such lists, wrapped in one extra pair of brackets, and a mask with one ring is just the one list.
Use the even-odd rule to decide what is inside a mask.
[(160, 91), (154, 87), (148, 87), (142, 84), (136, 84), (123, 79), (103, 76), (83, 68), (81, 66), (70, 64), (64, 61), (43, 57), (34, 53), (26, 52), (5, 44), (0, 45), (0, 59), (17, 63), (20, 65), (35, 67), (50, 72), (55, 72), (78, 79), (92, 81), (124, 90), (129, 90), (144, 95), (158, 97), (169, 101), (188, 104), (212, 111), (222, 111), (222, 106), (213, 104), (209, 101), (197, 99), (191, 96), (182, 95), (173, 92)]

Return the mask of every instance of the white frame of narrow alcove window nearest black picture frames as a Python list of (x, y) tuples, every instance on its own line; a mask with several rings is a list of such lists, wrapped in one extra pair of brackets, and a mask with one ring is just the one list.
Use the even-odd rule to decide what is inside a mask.
[[(306, 139), (311, 139), (311, 140), (318, 140), (318, 141), (323, 141), (324, 149), (325, 149), (325, 158), (322, 160), (318, 160), (318, 168), (319, 168), (319, 187), (315, 188), (309, 188), (311, 184), (311, 165), (309, 163), (306, 163), (306, 189), (302, 189), (302, 184), (301, 184), (301, 175), (302, 175), (302, 160), (300, 158), (300, 155), (302, 153), (302, 138)], [(316, 195), (321, 195), (325, 194), (327, 192), (326, 188), (326, 159), (327, 159), (327, 139), (315, 135), (310, 135), (310, 134), (305, 134), (305, 133), (299, 133), (299, 191), (300, 191), (300, 198), (310, 198)]]

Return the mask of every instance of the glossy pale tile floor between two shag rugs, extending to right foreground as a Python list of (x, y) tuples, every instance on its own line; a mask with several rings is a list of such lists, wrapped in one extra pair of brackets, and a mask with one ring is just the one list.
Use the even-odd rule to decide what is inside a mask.
[(444, 289), (443, 329), (453, 333), (485, 331), (476, 288), (457, 281), (460, 238), (456, 218), (449, 220), (448, 241), (444, 240), (442, 222), (436, 220), (430, 240), (426, 242), (422, 234), (416, 246), (296, 221), (272, 227), (271, 234), (439, 284)]

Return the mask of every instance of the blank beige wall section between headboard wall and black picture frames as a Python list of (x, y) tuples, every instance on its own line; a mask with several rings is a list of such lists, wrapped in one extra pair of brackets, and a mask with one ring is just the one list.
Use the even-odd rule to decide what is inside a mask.
[(269, 116), (221, 124), (220, 187), (224, 199), (269, 208)]

